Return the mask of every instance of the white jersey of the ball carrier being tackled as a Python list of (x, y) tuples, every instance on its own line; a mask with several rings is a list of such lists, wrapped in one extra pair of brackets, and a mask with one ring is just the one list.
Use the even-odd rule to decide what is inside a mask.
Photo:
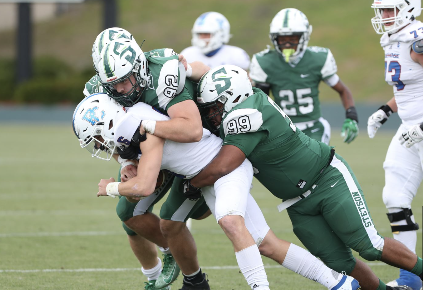
[[(132, 139), (142, 120), (166, 121), (170, 118), (150, 105), (139, 102), (126, 108), (125, 116), (118, 120), (115, 127), (116, 146), (126, 146)], [(198, 174), (217, 155), (222, 146), (222, 139), (203, 128), (203, 138), (194, 143), (165, 141), (162, 165), (182, 178), (192, 178)]]

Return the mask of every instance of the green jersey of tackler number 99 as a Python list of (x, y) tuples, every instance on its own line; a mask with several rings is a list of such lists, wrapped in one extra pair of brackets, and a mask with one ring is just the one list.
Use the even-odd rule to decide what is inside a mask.
[(241, 149), (253, 164), (254, 176), (273, 195), (299, 196), (319, 178), (331, 148), (298, 130), (263, 91), (253, 91), (223, 118), (222, 145)]

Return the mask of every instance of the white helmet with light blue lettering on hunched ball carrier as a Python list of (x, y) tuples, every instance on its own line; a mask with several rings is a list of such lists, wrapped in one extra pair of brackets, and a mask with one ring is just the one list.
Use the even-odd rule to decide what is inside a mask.
[(91, 157), (109, 161), (117, 153), (113, 141), (114, 125), (125, 115), (125, 108), (107, 94), (92, 94), (83, 99), (74, 111), (72, 127)]

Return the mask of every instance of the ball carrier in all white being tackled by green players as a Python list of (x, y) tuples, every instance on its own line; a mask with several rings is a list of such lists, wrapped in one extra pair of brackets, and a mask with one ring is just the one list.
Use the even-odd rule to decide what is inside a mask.
[[(90, 98), (94, 97), (99, 102), (91, 102)], [(104, 106), (103, 102), (107, 102), (108, 99), (110, 98), (106, 94), (102, 96), (96, 94), (82, 101), (79, 107), (80, 109), (84, 109), (84, 111), (90, 111), (95, 106), (98, 108), (99, 116), (102, 111), (107, 116), (107, 114), (113, 114), (119, 110), (118, 105), (115, 105), (115, 109)], [(140, 102), (129, 108), (124, 117), (118, 116), (114, 118), (114, 120), (120, 118), (118, 123), (113, 126), (114, 135), (109, 134), (108, 136), (104, 136), (105, 139), (101, 139), (100, 136), (94, 136), (92, 142), (103, 142), (102, 144), (114, 142), (113, 146), (127, 146), (127, 144), (131, 143), (129, 140), (134, 139), (134, 133), (137, 133), (137, 127), (141, 119), (145, 117), (156, 120), (169, 119), (167, 116), (158, 113), (151, 106)], [(96, 123), (96, 128), (102, 128), (104, 126), (101, 122)], [(91, 131), (92, 135), (96, 134), (94, 133), (94, 129)], [(104, 130), (104, 132), (107, 132), (107, 130)], [(166, 168), (185, 178), (193, 177), (214, 158), (214, 155), (220, 150), (221, 145), (222, 140), (206, 129), (203, 130), (201, 141), (196, 143), (176, 143), (148, 134), (146, 141), (141, 142), (139, 145), (135, 144), (135, 146), (138, 146), (139, 152), (141, 150), (143, 152), (138, 163), (137, 177), (132, 178), (128, 182), (113, 182), (113, 179), (101, 180), (98, 195), (130, 197), (150, 195), (154, 191), (154, 188), (151, 191), (151, 185), (153, 185), (151, 181), (157, 179), (154, 175), (159, 172), (158, 170), (160, 168)], [(131, 149), (131, 146), (134, 145), (129, 145), (126, 149)], [(97, 145), (97, 147), (100, 146)], [(261, 254), (276, 260), (286, 268), (308, 279), (323, 284), (329, 289), (357, 289), (359, 285), (351, 276), (343, 276), (340, 273), (332, 271), (320, 260), (308, 253), (308, 251), (289, 242), (279, 240), (269, 230), (269, 226), (267, 226), (261, 210), (249, 193), (252, 177), (253, 168), (250, 162), (246, 160), (242, 166), (236, 169), (234, 174), (223, 177), (214, 186), (202, 189), (204, 198), (219, 224), (222, 224), (222, 222), (225, 223), (225, 217), (228, 215), (245, 216), (245, 224), (242, 224), (242, 226), (239, 225), (238, 230), (242, 231), (242, 227), (247, 227), (249, 231), (248, 235), (251, 234), (250, 239), (253, 241), (253, 244), (241, 251), (237, 251), (236, 245), (239, 243), (233, 242), (233, 245), (239, 266), (251, 288), (264, 289), (268, 287), (261, 259), (261, 266), (259, 264), (259, 268), (262, 268), (264, 273), (264, 276), (262, 275), (261, 277), (258, 275), (257, 269), (251, 267), (252, 265), (248, 263), (251, 256), (258, 254), (256, 245), (260, 245), (266, 249)], [(155, 184), (156, 181), (154, 181)], [(228, 192), (231, 192), (231, 195), (228, 195)], [(225, 230), (225, 233), (232, 240), (233, 236), (231, 235), (233, 235), (233, 232)], [(249, 240), (240, 242), (248, 243)], [(284, 260), (286, 260), (285, 263)], [(187, 289), (184, 288), (185, 286), (186, 283), (184, 282), (182, 289)]]

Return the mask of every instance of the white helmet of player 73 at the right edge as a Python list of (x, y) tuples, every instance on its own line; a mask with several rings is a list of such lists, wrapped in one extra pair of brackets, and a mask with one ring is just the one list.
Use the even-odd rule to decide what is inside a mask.
[[(377, 34), (396, 33), (421, 14), (421, 6), (421, 0), (374, 0), (371, 8), (374, 8), (375, 17), (371, 23)], [(383, 19), (381, 9), (389, 8), (394, 9), (394, 17)], [(385, 26), (387, 22), (394, 24)]]

